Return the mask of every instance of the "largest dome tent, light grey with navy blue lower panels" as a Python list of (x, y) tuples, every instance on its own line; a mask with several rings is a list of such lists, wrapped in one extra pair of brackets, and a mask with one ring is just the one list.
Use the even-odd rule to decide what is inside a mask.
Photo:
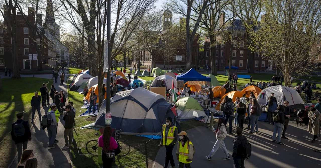
[[(170, 107), (163, 96), (144, 88), (118, 92), (110, 103), (110, 126), (116, 130), (121, 129), (125, 135), (158, 135), (166, 118), (175, 118)], [(94, 127), (106, 126), (105, 113), (104, 102), (99, 109)], [(179, 124), (175, 121), (173, 123), (176, 123), (175, 126), (180, 132)]]

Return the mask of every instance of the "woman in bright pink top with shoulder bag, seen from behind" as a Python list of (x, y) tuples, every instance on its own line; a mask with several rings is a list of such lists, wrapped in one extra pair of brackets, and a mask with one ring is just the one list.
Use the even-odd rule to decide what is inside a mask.
[(111, 168), (114, 158), (108, 158), (107, 154), (118, 148), (116, 140), (111, 136), (110, 126), (104, 128), (104, 133), (98, 138), (98, 146), (102, 148), (101, 159), (104, 168)]

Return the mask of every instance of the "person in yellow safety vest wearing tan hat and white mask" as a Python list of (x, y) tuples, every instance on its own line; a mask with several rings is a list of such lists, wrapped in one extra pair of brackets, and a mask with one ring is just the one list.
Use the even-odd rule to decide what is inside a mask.
[(186, 168), (191, 168), (194, 148), (192, 142), (187, 138), (187, 133), (185, 131), (177, 134), (179, 136), (177, 150), (176, 150), (176, 160), (178, 160), (178, 168), (183, 168), (184, 164)]

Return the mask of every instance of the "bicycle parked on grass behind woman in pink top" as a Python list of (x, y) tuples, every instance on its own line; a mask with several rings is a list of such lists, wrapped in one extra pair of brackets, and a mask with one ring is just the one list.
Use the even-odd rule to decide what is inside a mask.
[[(115, 133), (115, 140), (121, 150), (121, 152), (117, 155), (117, 156), (126, 156), (129, 154), (130, 152), (130, 145), (128, 142), (126, 142), (125, 140), (118, 140), (119, 138), (121, 138), (120, 136), (120, 130), (117, 130)], [(95, 133), (96, 136), (98, 136), (98, 133)], [(98, 155), (98, 140), (90, 140), (86, 143), (86, 151), (94, 156)]]

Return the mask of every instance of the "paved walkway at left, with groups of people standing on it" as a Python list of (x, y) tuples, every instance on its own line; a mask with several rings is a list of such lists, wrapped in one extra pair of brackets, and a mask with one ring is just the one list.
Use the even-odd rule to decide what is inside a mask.
[[(42, 75), (45, 76), (45, 75)], [(48, 75), (46, 75), (48, 76)], [(52, 76), (52, 75), (49, 75)], [(36, 77), (36, 75), (35, 75)], [(60, 86), (60, 81), (54, 83), (56, 90), (64, 91), (65, 95), (67, 96), (66, 92), (66, 85)], [(66, 84), (66, 83), (64, 83)], [(50, 103), (52, 103), (52, 99), (50, 98)], [(49, 108), (44, 107), (41, 108), (41, 115), (47, 114)], [(36, 112), (37, 115), (37, 112)], [(42, 130), (40, 127), (39, 118), (35, 118), (33, 126), (31, 127), (31, 141), (28, 142), (28, 149), (32, 149), (35, 157), (38, 160), (38, 167), (41, 168), (71, 168), (72, 162), (70, 160), (70, 151), (62, 150), (61, 148), (65, 146), (65, 139), (64, 139), (64, 124), (65, 122), (62, 120), (63, 115), (59, 119), (58, 123), (58, 132), (57, 132), (57, 140), (59, 142), (56, 144), (56, 148), (49, 149), (48, 146), (48, 132), (47, 129)], [(16, 168), (18, 165), (18, 160), (15, 158), (13, 164), (10, 168)]]

